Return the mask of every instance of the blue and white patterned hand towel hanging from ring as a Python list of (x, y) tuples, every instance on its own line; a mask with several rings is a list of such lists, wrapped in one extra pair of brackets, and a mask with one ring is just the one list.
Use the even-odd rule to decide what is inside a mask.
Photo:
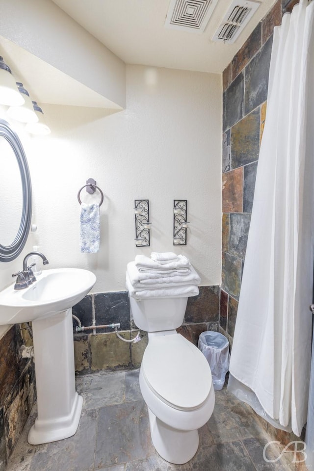
[(100, 211), (98, 204), (81, 204), (80, 210), (80, 251), (96, 254), (100, 246)]

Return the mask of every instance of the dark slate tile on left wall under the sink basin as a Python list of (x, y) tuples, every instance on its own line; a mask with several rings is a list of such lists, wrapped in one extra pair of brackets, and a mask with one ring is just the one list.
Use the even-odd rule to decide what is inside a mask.
[(19, 357), (23, 337), (20, 326), (14, 325), (0, 340), (0, 471), (36, 400), (34, 362)]

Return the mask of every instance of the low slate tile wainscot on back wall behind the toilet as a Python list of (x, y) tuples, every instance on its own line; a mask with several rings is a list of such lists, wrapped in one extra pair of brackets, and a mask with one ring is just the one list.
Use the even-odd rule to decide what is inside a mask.
[[(119, 333), (127, 340), (138, 331), (130, 319), (130, 304), (127, 291), (87, 295), (73, 308), (83, 326), (105, 325), (120, 322)], [(219, 287), (200, 287), (200, 294), (188, 299), (183, 325), (177, 331), (197, 345), (201, 332), (218, 330)], [(74, 329), (77, 322), (73, 323)], [(113, 329), (97, 329), (75, 333), (74, 350), (77, 374), (138, 368), (147, 345), (147, 334), (137, 343), (118, 339)]]

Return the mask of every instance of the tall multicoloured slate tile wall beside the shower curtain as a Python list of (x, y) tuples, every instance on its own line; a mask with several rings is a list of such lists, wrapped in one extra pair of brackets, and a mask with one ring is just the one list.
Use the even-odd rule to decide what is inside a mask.
[(272, 32), (278, 0), (223, 72), (222, 284), (219, 328), (234, 335), (260, 143), (265, 121)]

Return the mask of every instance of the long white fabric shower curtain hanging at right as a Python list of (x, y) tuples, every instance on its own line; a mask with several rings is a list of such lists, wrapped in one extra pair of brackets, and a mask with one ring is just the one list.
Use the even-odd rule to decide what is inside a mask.
[(314, 1), (275, 27), (228, 389), (273, 425), (307, 419), (314, 259)]

